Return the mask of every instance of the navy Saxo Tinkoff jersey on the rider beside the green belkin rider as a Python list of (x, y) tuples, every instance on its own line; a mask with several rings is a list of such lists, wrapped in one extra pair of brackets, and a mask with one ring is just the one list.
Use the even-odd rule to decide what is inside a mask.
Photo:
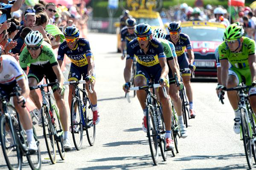
[(85, 66), (88, 64), (86, 57), (89, 57), (89, 56), (93, 57), (93, 54), (90, 49), (89, 41), (86, 40), (85, 38), (79, 38), (78, 42), (76, 43), (75, 49), (70, 49), (67, 46), (66, 41), (61, 43), (58, 49), (57, 60), (63, 61), (65, 54), (67, 55), (68, 58), (70, 58), (73, 64), (79, 67)]

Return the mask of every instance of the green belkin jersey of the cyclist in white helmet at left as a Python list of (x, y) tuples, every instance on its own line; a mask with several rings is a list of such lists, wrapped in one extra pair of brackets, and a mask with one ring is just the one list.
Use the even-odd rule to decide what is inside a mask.
[(42, 50), (38, 58), (33, 59), (27, 47), (25, 47), (20, 54), (20, 67), (23, 70), (26, 70), (27, 66), (30, 65), (44, 66), (47, 63), (50, 63), (51, 66), (55, 66), (58, 64), (52, 47), (45, 41), (43, 41), (42, 43)]

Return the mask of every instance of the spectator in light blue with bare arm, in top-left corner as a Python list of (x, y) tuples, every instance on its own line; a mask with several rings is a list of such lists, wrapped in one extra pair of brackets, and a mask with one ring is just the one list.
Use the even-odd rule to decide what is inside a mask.
[(0, 16), (0, 23), (4, 23), (7, 19), (11, 18), (11, 12), (19, 10), (24, 1), (25, 0), (17, 0), (14, 4), (0, 3), (0, 8), (7, 10), (6, 12), (3, 12), (3, 14)]

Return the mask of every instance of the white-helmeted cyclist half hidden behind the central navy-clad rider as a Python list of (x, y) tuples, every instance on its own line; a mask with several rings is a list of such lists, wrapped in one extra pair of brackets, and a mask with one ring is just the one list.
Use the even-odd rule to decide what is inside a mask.
[[(177, 61), (177, 55), (175, 53), (175, 47), (172, 42), (165, 40), (166, 34), (163, 29), (155, 29), (153, 32), (153, 36), (159, 40), (163, 46), (163, 51), (166, 55), (166, 60), (167, 64), (169, 67), (169, 76), (170, 74), (172, 77), (174, 77), (174, 73), (176, 73), (178, 80), (180, 81), (180, 68), (179, 64)], [(179, 96), (179, 89), (183, 88), (182, 82), (180, 82), (180, 86), (177, 87), (173, 83), (169, 83), (169, 95), (172, 98), (174, 107), (177, 111), (178, 115), (178, 129), (180, 131), (180, 137), (181, 138), (186, 138), (187, 135), (187, 130), (185, 125), (183, 124), (183, 119), (182, 119), (182, 112), (181, 112), (181, 99)]]

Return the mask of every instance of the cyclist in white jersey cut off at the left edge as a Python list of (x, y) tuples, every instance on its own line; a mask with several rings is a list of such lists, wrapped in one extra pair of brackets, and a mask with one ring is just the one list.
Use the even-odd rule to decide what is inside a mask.
[(23, 103), (26, 103), (26, 99), (29, 97), (30, 91), (26, 75), (15, 58), (10, 55), (1, 56), (1, 54), (2, 49), (0, 49), (0, 92), (2, 95), (7, 95), (9, 99), (9, 94), (13, 91), (15, 86), (18, 85), (22, 89), (21, 95), (18, 98), (13, 98), (14, 106), (20, 114), (20, 121), (27, 134), (28, 150), (38, 150), (33, 136), (31, 117), (26, 107), (22, 107)]

